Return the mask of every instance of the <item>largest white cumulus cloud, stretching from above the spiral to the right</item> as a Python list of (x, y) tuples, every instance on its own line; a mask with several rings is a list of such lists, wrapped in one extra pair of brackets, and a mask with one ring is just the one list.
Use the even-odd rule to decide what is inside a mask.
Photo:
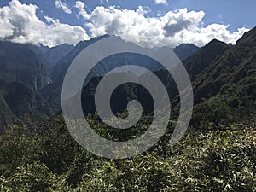
[(203, 46), (212, 38), (236, 43), (248, 31), (243, 27), (237, 32), (230, 32), (229, 26), (222, 24), (204, 26), (203, 11), (179, 9), (165, 15), (149, 17), (141, 6), (137, 10), (98, 6), (88, 13), (84, 9), (84, 3), (78, 1), (77, 4), (80, 4), (77, 6), (79, 15), (86, 20), (84, 25), (89, 28), (92, 36), (119, 35), (125, 40), (148, 47), (174, 47), (182, 43)]

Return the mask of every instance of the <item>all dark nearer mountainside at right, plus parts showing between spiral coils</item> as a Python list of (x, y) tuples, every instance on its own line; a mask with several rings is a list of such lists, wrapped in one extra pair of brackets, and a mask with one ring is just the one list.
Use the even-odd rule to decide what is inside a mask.
[[(194, 96), (195, 115), (191, 125), (201, 122), (227, 123), (246, 121), (256, 117), (256, 28), (247, 32), (236, 45), (213, 39), (195, 51), (183, 65), (189, 73)], [(178, 91), (172, 76), (165, 70), (154, 72), (166, 85), (172, 108), (178, 106)], [(92, 79), (82, 93), (84, 113), (96, 113), (94, 93), (101, 77)], [(130, 89), (127, 90), (127, 87)], [(113, 93), (113, 112), (124, 110), (132, 96), (153, 109), (147, 90), (138, 85), (121, 86)], [(143, 97), (142, 97), (143, 96)], [(121, 104), (120, 104), (121, 103)]]

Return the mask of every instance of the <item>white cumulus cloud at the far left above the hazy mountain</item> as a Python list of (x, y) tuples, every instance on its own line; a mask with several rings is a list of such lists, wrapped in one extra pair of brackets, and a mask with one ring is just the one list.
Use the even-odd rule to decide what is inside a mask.
[(13, 0), (9, 6), (0, 8), (0, 38), (21, 44), (44, 44), (50, 47), (57, 44), (76, 44), (88, 39), (81, 26), (63, 24), (44, 16), (47, 23), (38, 19), (38, 7), (33, 4), (22, 4)]

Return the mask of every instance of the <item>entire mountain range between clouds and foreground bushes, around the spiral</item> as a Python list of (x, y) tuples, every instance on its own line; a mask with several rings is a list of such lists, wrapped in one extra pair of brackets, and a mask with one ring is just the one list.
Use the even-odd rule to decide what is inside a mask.
[[(62, 44), (54, 48), (32, 44), (0, 42), (0, 125), (2, 132), (8, 125), (25, 122), (24, 117), (37, 119), (52, 116), (61, 111), (61, 85), (67, 68), (76, 55), (102, 36), (79, 42), (76, 46)], [(202, 48), (193, 44), (181, 44), (172, 49), (183, 61), (193, 84), (195, 115), (191, 125), (199, 125), (201, 119), (209, 122), (228, 122), (253, 119), (256, 116), (256, 27), (246, 32), (236, 44), (225, 44), (213, 39)], [(102, 61), (100, 70), (91, 74), (84, 86), (82, 102), (85, 113), (95, 113), (94, 91), (102, 75), (120, 61), (142, 60), (137, 56), (111, 58)], [(170, 74), (160, 68), (152, 71), (166, 85), (172, 98), (172, 107), (178, 107), (177, 87)], [(132, 93), (151, 108), (147, 90), (132, 86)], [(87, 90), (86, 90), (87, 89)], [(172, 90), (172, 91), (171, 91)], [(119, 87), (113, 95), (113, 109), (124, 108), (127, 86)], [(125, 99), (124, 99), (125, 98)], [(88, 102), (90, 101), (90, 102)], [(127, 102), (127, 101), (126, 101)], [(83, 102), (85, 103), (85, 102)], [(150, 111), (150, 110), (149, 110)], [(208, 113), (212, 112), (212, 113)], [(207, 113), (204, 115), (204, 113)]]

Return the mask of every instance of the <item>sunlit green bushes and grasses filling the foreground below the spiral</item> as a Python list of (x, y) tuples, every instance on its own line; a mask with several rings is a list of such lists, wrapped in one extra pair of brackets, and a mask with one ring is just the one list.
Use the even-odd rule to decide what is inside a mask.
[(163, 137), (147, 153), (124, 160), (81, 148), (61, 116), (41, 126), (44, 131), (13, 125), (0, 137), (1, 191), (256, 190), (255, 124), (190, 129), (174, 148)]

